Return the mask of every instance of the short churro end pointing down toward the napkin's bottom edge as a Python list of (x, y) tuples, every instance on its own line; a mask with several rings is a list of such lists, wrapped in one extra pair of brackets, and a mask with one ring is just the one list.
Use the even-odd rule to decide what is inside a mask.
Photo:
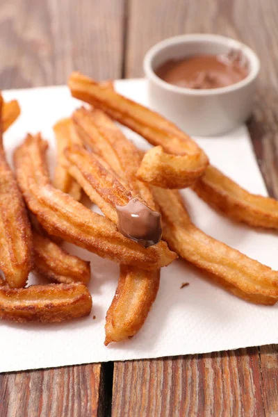
[(121, 265), (120, 280), (106, 313), (104, 345), (134, 336), (144, 324), (158, 292), (160, 270)]

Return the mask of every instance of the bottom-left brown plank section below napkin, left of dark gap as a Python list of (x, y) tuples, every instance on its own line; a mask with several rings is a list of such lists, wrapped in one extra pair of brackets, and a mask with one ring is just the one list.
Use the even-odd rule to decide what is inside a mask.
[(0, 416), (97, 416), (100, 384), (98, 363), (0, 375)]

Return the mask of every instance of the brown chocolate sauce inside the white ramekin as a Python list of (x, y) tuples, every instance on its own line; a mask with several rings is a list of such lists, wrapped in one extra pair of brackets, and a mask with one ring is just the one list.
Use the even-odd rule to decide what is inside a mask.
[(227, 87), (245, 79), (247, 62), (240, 51), (224, 55), (196, 55), (181, 60), (167, 60), (156, 75), (178, 87), (208, 89)]

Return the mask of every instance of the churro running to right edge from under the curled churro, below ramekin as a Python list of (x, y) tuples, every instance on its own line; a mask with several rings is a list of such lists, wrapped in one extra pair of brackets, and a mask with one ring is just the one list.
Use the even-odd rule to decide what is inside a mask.
[(270, 197), (254, 195), (238, 186), (212, 165), (193, 186), (207, 204), (227, 217), (254, 227), (278, 229), (278, 202)]

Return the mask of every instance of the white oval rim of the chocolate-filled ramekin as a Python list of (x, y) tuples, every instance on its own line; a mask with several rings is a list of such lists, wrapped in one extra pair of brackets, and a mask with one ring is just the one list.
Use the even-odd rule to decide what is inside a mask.
[[(245, 58), (247, 58), (250, 64), (250, 74), (248, 74), (245, 79), (238, 81), (238, 83), (228, 85), (227, 87), (220, 87), (220, 88), (211, 88), (211, 89), (198, 89), (195, 90), (193, 88), (185, 88), (185, 87), (178, 87), (177, 85), (172, 85), (163, 81), (159, 78), (153, 70), (152, 61), (158, 52), (162, 51), (166, 47), (174, 44), (183, 44), (189, 42), (199, 42), (199, 43), (206, 43), (206, 42), (215, 42), (217, 44), (224, 44), (234, 49), (240, 49), (243, 52)], [(256, 55), (256, 53), (248, 47), (246, 44), (239, 42), (233, 38), (228, 38), (227, 36), (222, 35), (213, 35), (208, 33), (190, 33), (185, 35), (177, 35), (173, 36), (172, 38), (167, 38), (154, 44), (154, 46), (147, 51), (143, 60), (143, 69), (145, 72), (145, 76), (147, 79), (152, 80), (154, 83), (158, 84), (161, 88), (165, 90), (169, 90), (172, 92), (177, 92), (180, 95), (191, 95), (191, 96), (211, 96), (211, 95), (221, 95), (227, 92), (233, 92), (236, 90), (240, 90), (240, 88), (245, 87), (246, 85), (252, 83), (256, 79), (261, 69), (261, 63)]]

